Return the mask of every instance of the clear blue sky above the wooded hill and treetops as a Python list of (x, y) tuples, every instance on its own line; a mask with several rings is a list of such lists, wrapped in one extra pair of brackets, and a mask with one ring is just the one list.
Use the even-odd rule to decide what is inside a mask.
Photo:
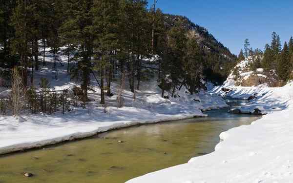
[(273, 31), (282, 44), (293, 36), (293, 0), (158, 0), (157, 7), (207, 28), (234, 54), (246, 38), (263, 50)]

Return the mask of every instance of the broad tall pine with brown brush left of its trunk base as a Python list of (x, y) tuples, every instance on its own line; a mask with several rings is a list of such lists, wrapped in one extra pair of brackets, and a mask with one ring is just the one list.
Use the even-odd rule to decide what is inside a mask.
[(88, 101), (87, 90), (90, 85), (91, 57), (93, 52), (92, 12), (93, 0), (63, 1), (61, 7), (66, 19), (59, 28), (60, 36), (74, 44), (77, 53), (72, 60), (77, 61), (71, 76), (81, 81), (83, 101)]

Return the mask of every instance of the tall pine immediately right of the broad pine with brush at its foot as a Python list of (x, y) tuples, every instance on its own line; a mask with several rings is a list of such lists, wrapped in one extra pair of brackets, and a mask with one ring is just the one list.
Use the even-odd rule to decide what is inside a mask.
[[(105, 104), (104, 90), (111, 96), (111, 80), (113, 73), (115, 52), (119, 48), (119, 3), (117, 0), (94, 0), (93, 35), (95, 35), (95, 68), (101, 73), (101, 103)], [(105, 71), (108, 75), (106, 76)], [(107, 79), (107, 87), (104, 79)]]

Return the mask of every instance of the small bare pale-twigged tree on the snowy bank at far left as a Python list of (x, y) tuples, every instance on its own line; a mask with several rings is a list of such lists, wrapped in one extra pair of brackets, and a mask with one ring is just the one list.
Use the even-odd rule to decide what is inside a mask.
[(24, 85), (19, 69), (12, 69), (12, 84), (11, 84), (11, 104), (12, 112), (16, 119), (19, 118), (21, 109), (24, 105)]

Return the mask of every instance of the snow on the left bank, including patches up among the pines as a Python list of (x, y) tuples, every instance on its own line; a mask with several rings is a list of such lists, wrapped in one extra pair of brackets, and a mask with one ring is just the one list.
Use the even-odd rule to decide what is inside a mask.
[[(70, 80), (67, 74), (66, 57), (60, 57), (63, 66), (57, 62), (57, 69), (53, 70), (52, 57), (49, 48), (46, 49), (46, 66), (40, 67), (35, 73), (35, 86), (39, 86), (41, 78), (50, 82), (52, 89), (71, 89), (78, 82)], [(40, 58), (41, 59), (41, 58)], [(57, 80), (55, 75), (57, 74)], [(106, 97), (106, 112), (100, 102), (100, 88), (95, 80), (92, 80), (92, 89), (89, 91), (89, 99), (86, 108), (71, 107), (65, 115), (61, 112), (47, 115), (32, 115), (29, 112), (21, 115), (18, 121), (12, 116), (0, 116), (0, 154), (41, 147), (43, 145), (74, 140), (93, 136), (99, 132), (117, 129), (141, 123), (156, 123), (175, 121), (193, 117), (206, 117), (202, 110), (227, 107), (224, 100), (213, 97), (204, 91), (190, 95), (185, 87), (176, 91), (176, 98), (170, 100), (161, 97), (156, 78), (150, 81), (142, 81), (141, 90), (133, 93), (123, 91), (125, 104), (123, 108), (117, 108), (117, 93), (119, 82), (112, 83), (113, 97)], [(126, 79), (126, 88), (127, 79)], [(7, 94), (7, 88), (0, 88), (0, 94)], [(2, 91), (2, 92), (1, 92)], [(165, 95), (169, 95), (165, 93)]]

